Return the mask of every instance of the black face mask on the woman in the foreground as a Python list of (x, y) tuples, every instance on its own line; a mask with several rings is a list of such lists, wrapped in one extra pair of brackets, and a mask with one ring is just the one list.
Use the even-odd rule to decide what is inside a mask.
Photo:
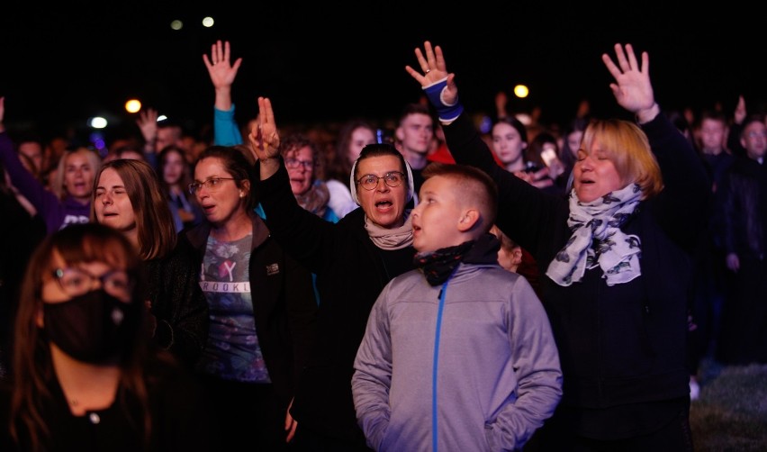
[(136, 303), (122, 303), (104, 289), (64, 303), (43, 303), (48, 339), (79, 361), (101, 363), (131, 345), (139, 321)]

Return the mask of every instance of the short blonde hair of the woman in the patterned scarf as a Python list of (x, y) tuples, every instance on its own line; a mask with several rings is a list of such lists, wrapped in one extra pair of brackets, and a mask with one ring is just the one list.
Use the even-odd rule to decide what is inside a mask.
[(618, 120), (591, 120), (583, 132), (582, 149), (598, 142), (600, 150), (615, 165), (624, 186), (636, 183), (642, 199), (663, 190), (661, 167), (650, 149), (647, 135), (635, 123)]

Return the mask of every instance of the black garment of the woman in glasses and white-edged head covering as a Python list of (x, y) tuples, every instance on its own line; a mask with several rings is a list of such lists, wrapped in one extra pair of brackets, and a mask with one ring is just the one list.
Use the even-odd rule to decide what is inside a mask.
[(376, 247), (365, 231), (361, 208), (338, 223), (303, 210), (295, 202), (284, 165), (258, 188), (270, 231), (317, 275), (320, 294), (317, 343), (302, 373), (293, 417), (299, 429), (308, 427), (365, 446), (351, 392), (356, 350), (378, 294), (394, 276), (413, 268), (415, 250)]

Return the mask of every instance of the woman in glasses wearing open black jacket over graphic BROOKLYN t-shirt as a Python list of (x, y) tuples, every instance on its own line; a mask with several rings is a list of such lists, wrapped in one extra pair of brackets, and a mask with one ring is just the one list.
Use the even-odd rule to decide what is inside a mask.
[(254, 177), (239, 149), (205, 149), (189, 185), (205, 219), (180, 236), (194, 254), (210, 308), (208, 342), (196, 370), (211, 398), (221, 450), (243, 442), (258, 450), (288, 446), (295, 429), (288, 408), (317, 310), (311, 274), (254, 212)]

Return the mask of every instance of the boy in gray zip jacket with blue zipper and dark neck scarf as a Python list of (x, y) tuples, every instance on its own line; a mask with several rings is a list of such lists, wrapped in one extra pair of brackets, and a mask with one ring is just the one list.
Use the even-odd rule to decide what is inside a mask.
[(412, 211), (411, 272), (378, 297), (352, 378), (377, 451), (517, 450), (562, 397), (559, 356), (528, 281), (499, 266), (488, 233), (497, 188), (433, 163)]

